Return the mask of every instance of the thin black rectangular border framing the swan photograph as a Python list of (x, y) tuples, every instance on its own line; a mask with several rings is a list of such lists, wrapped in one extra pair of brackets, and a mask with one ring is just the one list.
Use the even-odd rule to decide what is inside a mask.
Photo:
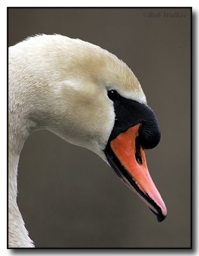
[[(191, 245), (190, 247), (144, 247), (144, 248), (139, 248), (139, 247), (130, 247), (130, 248), (121, 248), (121, 247), (118, 247), (118, 248), (50, 248), (50, 247), (43, 247), (43, 248), (9, 248), (8, 247), (8, 29), (9, 29), (9, 22), (8, 22), (8, 17), (9, 17), (9, 9), (18, 9), (18, 8), (21, 8), (21, 9), (24, 9), (24, 8), (28, 8), (28, 9), (32, 9), (32, 8), (40, 8), (40, 9), (43, 9), (43, 8), (55, 8), (55, 9), (59, 9), (59, 8), (115, 8), (115, 9), (118, 9), (118, 8), (121, 8), (121, 9), (124, 9), (124, 8), (132, 8), (132, 9), (189, 9), (190, 10), (190, 19), (191, 19), (191, 22), (190, 22), (190, 40), (191, 40), (191, 54), (190, 54), (190, 71), (191, 71), (191, 77), (190, 77), (190, 82), (191, 82), (191, 136), (190, 136), (190, 140), (191, 140), (191, 152), (190, 152), (190, 156), (191, 156), (191, 198), (190, 198), (190, 202), (191, 202)], [(194, 147), (194, 152), (196, 154), (196, 143), (194, 142), (192, 144), (192, 132), (194, 132), (194, 134), (196, 134), (196, 121), (193, 121), (193, 115), (196, 116), (196, 111), (194, 111), (193, 113), (193, 108), (195, 107), (195, 104), (196, 104), (196, 86), (193, 88), (193, 84), (195, 85), (195, 77), (193, 77), (193, 74), (196, 74), (196, 65), (192, 66), (192, 64), (196, 64), (196, 57), (193, 56), (193, 49), (196, 50), (196, 44), (195, 44), (195, 40), (196, 40), (196, 13), (193, 13), (192, 11), (192, 6), (137, 6), (137, 7), (132, 7), (132, 6), (70, 6), (70, 7), (66, 7), (66, 6), (59, 6), (59, 7), (56, 7), (56, 6), (8, 6), (7, 7), (7, 249), (11, 249), (12, 250), (12, 253), (31, 253), (32, 250), (37, 250), (38, 252), (40, 253), (60, 253), (60, 254), (65, 254), (66, 253), (66, 249), (67, 249), (67, 252), (71, 252), (71, 253), (75, 253), (75, 252), (80, 252), (79, 250), (82, 250), (84, 249), (84, 251), (82, 251), (83, 253), (95, 253), (96, 252), (96, 249), (100, 249), (100, 250), (103, 250), (103, 252), (115, 252), (115, 253), (118, 253), (117, 249), (120, 249), (120, 251), (122, 250), (124, 253), (129, 253), (131, 252), (131, 250), (133, 249), (133, 252), (138, 252), (138, 253), (142, 253), (143, 251), (145, 250), (150, 250), (149, 254), (158, 254), (159, 253), (162, 253), (163, 250), (162, 249), (166, 249), (166, 250), (170, 250), (170, 252), (173, 252), (173, 253), (186, 253), (185, 250), (192, 250), (191, 253), (194, 253), (196, 252), (196, 238), (195, 240), (193, 241), (193, 231), (194, 231), (194, 234), (195, 234), (195, 237), (196, 237), (196, 228), (194, 228), (193, 230), (193, 217), (196, 219), (196, 214), (193, 214), (193, 184), (195, 185), (195, 188), (196, 188), (196, 181), (193, 183), (193, 180), (196, 180), (196, 179), (193, 179), (193, 173), (192, 173), (192, 166), (195, 167), (196, 169), (196, 163), (194, 161), (193, 163), (193, 155), (192, 155), (192, 147)], [(193, 30), (192, 30), (193, 29)], [(193, 34), (193, 31), (195, 32), (195, 34)], [(194, 35), (194, 36), (193, 36)], [(193, 48), (192, 48), (193, 47)], [(193, 67), (193, 69), (192, 69)], [(194, 89), (194, 90), (193, 90)], [(194, 100), (194, 102), (192, 101), (192, 99)], [(193, 108), (192, 108), (193, 107)], [(194, 109), (195, 110), (195, 109)], [(193, 122), (193, 123), (192, 123)], [(192, 124), (194, 124), (194, 127), (192, 126)], [(195, 159), (196, 159), (196, 155), (195, 155)], [(194, 165), (192, 165), (194, 164)], [(196, 200), (196, 198), (195, 198)], [(196, 211), (196, 208), (194, 207), (195, 211)], [(194, 243), (194, 246), (193, 247), (193, 243)], [(15, 250), (13, 250), (15, 249)], [(31, 250), (30, 250), (31, 249)], [(48, 250), (48, 249), (53, 249), (53, 250)], [(89, 250), (87, 250), (89, 249)], [(106, 251), (108, 249), (108, 251)], [(116, 250), (115, 250), (116, 249)], [(129, 250), (131, 249), (131, 250)], [(50, 252), (51, 251), (51, 252)]]

